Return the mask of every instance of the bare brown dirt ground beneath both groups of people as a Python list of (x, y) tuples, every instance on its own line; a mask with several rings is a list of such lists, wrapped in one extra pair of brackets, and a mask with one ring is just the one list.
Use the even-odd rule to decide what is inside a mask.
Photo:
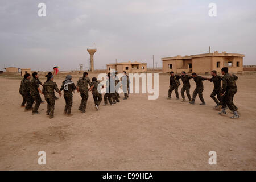
[[(256, 75), (238, 75), (234, 102), (241, 118), (237, 120), (213, 109), (209, 81), (204, 81), (205, 106), (199, 105), (198, 97), (196, 105), (167, 100), (168, 77), (159, 75), (158, 100), (147, 100), (147, 94), (122, 100), (122, 94), (120, 103), (101, 102), (96, 111), (90, 93), (87, 112), (81, 114), (81, 97), (76, 93), (73, 116), (63, 114), (61, 97), (53, 119), (46, 115), (46, 103), (40, 105), (39, 115), (24, 112), (20, 80), (0, 77), (0, 169), (255, 170)], [(60, 88), (63, 78), (55, 81)], [(192, 94), (195, 82), (191, 84)], [(46, 165), (38, 164), (39, 151), (46, 151)], [(216, 151), (216, 165), (209, 165), (209, 151)]]

